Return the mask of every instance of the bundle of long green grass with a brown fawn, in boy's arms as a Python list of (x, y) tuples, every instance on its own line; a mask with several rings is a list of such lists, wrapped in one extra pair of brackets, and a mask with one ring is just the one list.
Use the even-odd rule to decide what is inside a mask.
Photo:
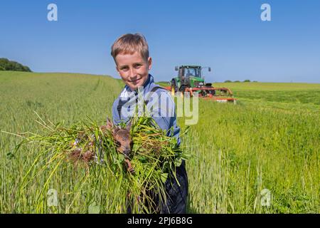
[[(107, 213), (159, 212), (167, 198), (164, 182), (189, 157), (150, 117), (134, 117), (120, 127), (110, 120), (106, 125), (80, 121), (69, 128), (39, 123), (43, 132), (24, 133), (18, 145), (31, 145), (36, 158), (15, 195), (37, 213), (87, 212), (92, 203)], [(50, 204), (50, 189), (58, 189), (58, 204)]]

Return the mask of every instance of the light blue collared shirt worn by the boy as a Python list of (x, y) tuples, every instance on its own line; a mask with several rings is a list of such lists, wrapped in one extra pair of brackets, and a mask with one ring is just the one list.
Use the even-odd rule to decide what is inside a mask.
[[(152, 95), (151, 99), (147, 97), (149, 92), (154, 87), (159, 87), (154, 83), (154, 77), (149, 74), (148, 79), (144, 83), (143, 86), (143, 95), (144, 100), (149, 100), (149, 103), (146, 105), (146, 108), (149, 110), (151, 117), (156, 121), (156, 123), (159, 125), (159, 128), (166, 131), (166, 135), (170, 137), (175, 137), (177, 139), (178, 145), (180, 145), (181, 140), (179, 137), (180, 128), (178, 125), (176, 125), (176, 107), (174, 103), (174, 99), (171, 97), (169, 91), (167, 91), (164, 88), (158, 88), (155, 90), (154, 93), (156, 93), (156, 96)], [(138, 93), (137, 91), (132, 91), (129, 86), (124, 86), (124, 90), (120, 93), (118, 98), (114, 100), (114, 103), (112, 105), (112, 120), (114, 125), (119, 125), (122, 121), (124, 123), (128, 123), (132, 115), (122, 115), (122, 113), (126, 113), (127, 108), (131, 108), (130, 106), (136, 105), (136, 99), (137, 99)], [(154, 100), (157, 98), (157, 100)], [(161, 101), (162, 104), (161, 105)], [(129, 102), (129, 103), (128, 103)], [(159, 110), (150, 110), (152, 103), (158, 102)], [(153, 107), (154, 108), (154, 107)], [(129, 110), (129, 109), (128, 109)], [(166, 113), (168, 115), (166, 115)], [(119, 114), (121, 116), (119, 116)], [(171, 128), (173, 127), (173, 131), (171, 132)]]

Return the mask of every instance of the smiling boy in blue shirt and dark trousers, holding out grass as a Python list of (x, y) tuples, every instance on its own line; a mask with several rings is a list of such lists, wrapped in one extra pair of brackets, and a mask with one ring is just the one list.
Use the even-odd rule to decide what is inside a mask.
[[(174, 100), (164, 88), (154, 83), (153, 76), (149, 74), (152, 60), (149, 56), (149, 47), (144, 36), (139, 33), (128, 33), (120, 36), (112, 45), (111, 55), (116, 63), (119, 76), (121, 76), (126, 84), (124, 90), (122, 90), (122, 93), (114, 100), (112, 105), (114, 124), (118, 125), (122, 121), (124, 123), (129, 122), (132, 116), (130, 114), (132, 113), (128, 109), (137, 105), (138, 89), (143, 92), (142, 97), (147, 109), (150, 106), (148, 105), (149, 101), (152, 101), (147, 94), (156, 93), (157, 96), (152, 96), (152, 98), (158, 100), (153, 101), (160, 104), (161, 100), (166, 100), (166, 105), (164, 106), (162, 102), (162, 105), (158, 105), (159, 108), (157, 110), (150, 110), (151, 117), (154, 118), (161, 129), (167, 131), (168, 136), (176, 137), (178, 145), (180, 145), (180, 128), (176, 125)], [(169, 115), (169, 113), (173, 113), (173, 115)], [(171, 127), (173, 127), (173, 131), (169, 130)], [(181, 166), (176, 167), (176, 177), (180, 186), (175, 178), (169, 177), (166, 180), (167, 201), (165, 205), (161, 205), (160, 207), (161, 210), (159, 212), (161, 214), (186, 213), (188, 177), (184, 161)]]

